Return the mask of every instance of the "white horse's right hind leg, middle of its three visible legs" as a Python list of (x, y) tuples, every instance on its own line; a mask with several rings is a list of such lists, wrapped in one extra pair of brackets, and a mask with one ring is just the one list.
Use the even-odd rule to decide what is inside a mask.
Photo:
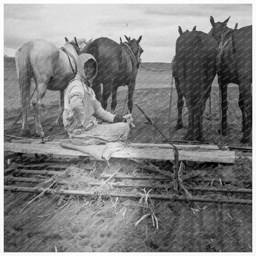
[(40, 121), (40, 106), (42, 102), (42, 98), (46, 94), (46, 83), (40, 82), (38, 83), (38, 90), (36, 94), (36, 100), (33, 100), (32, 105), (34, 108), (34, 131), (39, 137), (44, 137), (44, 131), (42, 130), (41, 121)]

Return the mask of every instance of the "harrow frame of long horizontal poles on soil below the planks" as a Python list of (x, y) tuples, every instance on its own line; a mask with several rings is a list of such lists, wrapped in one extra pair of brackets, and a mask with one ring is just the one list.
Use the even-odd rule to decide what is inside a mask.
[[(182, 190), (175, 191), (174, 179), (172, 172), (162, 170), (162, 173), (148, 171), (150, 174), (105, 174), (100, 176), (96, 182), (87, 182), (88, 187), (84, 190), (63, 190), (63, 185), (68, 184), (70, 170), (68, 167), (76, 163), (77, 159), (71, 163), (59, 159), (40, 159), (23, 164), (12, 169), (4, 171), (4, 190), (12, 192), (26, 192), (36, 194), (56, 194), (63, 196), (82, 196), (92, 199), (101, 198), (132, 198), (140, 199), (141, 196), (134, 191), (151, 190), (149, 194), (151, 199), (170, 200), (182, 202), (209, 202), (217, 204), (252, 204), (251, 181), (249, 180), (232, 180), (218, 178), (202, 178), (198, 176), (182, 175), (180, 179), (186, 190), (190, 191), (190, 196), (184, 196)], [(140, 168), (138, 168), (139, 170)], [(85, 172), (94, 170), (92, 167), (85, 167)], [(26, 177), (23, 177), (23, 176)], [(30, 176), (30, 177), (28, 177)], [(85, 177), (86, 178), (86, 177)], [(125, 181), (134, 180), (133, 183), (127, 184)], [(237, 184), (247, 184), (247, 188), (238, 188)], [(220, 186), (220, 183), (222, 186)], [(52, 184), (54, 186), (50, 187)], [(196, 184), (196, 186), (195, 186)], [(231, 184), (233, 186), (226, 186)], [(33, 187), (31, 187), (33, 185)], [(108, 187), (108, 193), (97, 192), (101, 186)], [(116, 188), (120, 191), (115, 192)], [(131, 188), (133, 192), (127, 193), (126, 189)], [(111, 192), (109, 192), (111, 191)], [(238, 198), (242, 197), (242, 198)]]

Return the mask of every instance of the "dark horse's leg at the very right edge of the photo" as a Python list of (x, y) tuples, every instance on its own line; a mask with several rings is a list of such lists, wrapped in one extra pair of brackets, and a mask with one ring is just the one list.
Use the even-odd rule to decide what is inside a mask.
[(243, 81), (239, 84), (239, 90), (242, 102), (244, 103), (244, 112), (246, 113), (244, 134), (242, 136), (242, 143), (251, 143), (252, 132), (252, 93), (250, 91), (250, 83)]

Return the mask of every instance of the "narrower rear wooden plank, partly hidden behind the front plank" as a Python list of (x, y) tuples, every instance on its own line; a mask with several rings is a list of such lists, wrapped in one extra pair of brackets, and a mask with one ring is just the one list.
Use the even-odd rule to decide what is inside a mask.
[[(56, 144), (56, 143), (60, 143), (60, 142), (69, 142), (70, 140), (68, 139), (55, 139), (52, 140), (50, 142), (45, 142), (45, 144)], [(11, 140), (12, 143), (41, 143), (42, 140), (41, 139), (26, 139), (26, 140)], [(175, 145), (175, 144), (174, 144)], [(157, 144), (157, 143), (130, 143), (129, 146), (133, 146), (135, 148), (173, 148), (172, 145), (170, 145), (169, 143), (166, 144)], [(185, 145), (180, 145), (177, 144), (175, 145), (177, 146), (178, 150), (182, 150), (182, 149), (188, 149), (188, 150), (220, 150), (218, 148), (217, 145), (214, 144), (209, 144), (209, 145), (189, 145), (189, 144), (185, 144)]]

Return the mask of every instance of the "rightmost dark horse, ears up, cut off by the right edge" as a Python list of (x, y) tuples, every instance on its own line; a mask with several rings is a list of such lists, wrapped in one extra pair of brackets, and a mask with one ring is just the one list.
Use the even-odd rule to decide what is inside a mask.
[(217, 74), (218, 85), (222, 94), (222, 133), (228, 130), (227, 89), (233, 82), (239, 87), (239, 108), (242, 111), (243, 143), (249, 143), (252, 130), (252, 26), (239, 30), (226, 26), (224, 22), (214, 22), (210, 17), (212, 30), (209, 32), (218, 42)]

